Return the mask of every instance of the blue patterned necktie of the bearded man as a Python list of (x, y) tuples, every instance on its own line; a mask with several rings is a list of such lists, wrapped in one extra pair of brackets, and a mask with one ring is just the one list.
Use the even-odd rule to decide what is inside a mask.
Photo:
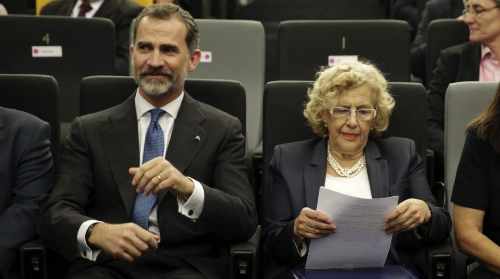
[[(156, 108), (151, 109), (150, 112), (151, 122), (149, 123), (146, 140), (144, 141), (144, 154), (142, 156), (143, 164), (156, 157), (162, 157), (165, 146), (163, 130), (160, 124), (158, 124), (158, 118), (160, 118), (165, 111)], [(135, 200), (134, 211), (132, 212), (132, 222), (147, 230), (149, 226), (149, 214), (151, 213), (151, 208), (153, 208), (156, 203), (156, 199), (157, 195), (149, 194), (148, 196), (144, 196), (143, 193), (138, 193)]]

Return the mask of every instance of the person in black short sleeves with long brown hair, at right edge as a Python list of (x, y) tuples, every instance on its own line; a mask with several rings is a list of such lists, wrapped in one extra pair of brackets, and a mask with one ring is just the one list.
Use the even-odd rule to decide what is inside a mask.
[[(480, 93), (480, 92), (478, 92)], [(467, 128), (451, 201), (458, 249), (479, 266), (470, 279), (500, 278), (500, 87)]]

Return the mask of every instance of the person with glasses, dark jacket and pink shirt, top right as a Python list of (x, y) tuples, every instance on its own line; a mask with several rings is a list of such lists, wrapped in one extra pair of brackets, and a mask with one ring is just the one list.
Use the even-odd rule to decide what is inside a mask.
[[(435, 152), (435, 177), (444, 176), (444, 99), (459, 81), (500, 81), (500, 0), (468, 0), (463, 19), (469, 42), (441, 51), (428, 88), (428, 147)], [(480, 94), (480, 92), (471, 92)]]

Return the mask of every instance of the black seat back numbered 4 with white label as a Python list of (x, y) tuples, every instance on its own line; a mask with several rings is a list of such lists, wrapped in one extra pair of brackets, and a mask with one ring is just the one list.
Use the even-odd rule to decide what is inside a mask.
[(56, 78), (64, 142), (69, 123), (78, 116), (82, 77), (115, 72), (113, 22), (106, 18), (9, 15), (0, 16), (0, 34), (0, 73)]

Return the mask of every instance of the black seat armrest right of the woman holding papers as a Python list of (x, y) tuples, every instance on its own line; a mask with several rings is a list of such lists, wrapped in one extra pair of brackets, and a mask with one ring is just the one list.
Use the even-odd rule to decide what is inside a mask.
[(427, 248), (427, 278), (451, 279), (454, 278), (454, 257), (451, 238), (438, 245)]

